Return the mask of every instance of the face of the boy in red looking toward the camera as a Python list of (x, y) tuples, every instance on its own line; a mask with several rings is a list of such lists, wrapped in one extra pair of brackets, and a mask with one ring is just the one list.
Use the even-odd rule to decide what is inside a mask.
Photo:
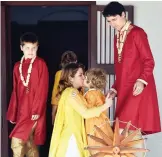
[(24, 53), (25, 59), (31, 59), (37, 55), (38, 43), (24, 42), (24, 45), (20, 45), (20, 48)]

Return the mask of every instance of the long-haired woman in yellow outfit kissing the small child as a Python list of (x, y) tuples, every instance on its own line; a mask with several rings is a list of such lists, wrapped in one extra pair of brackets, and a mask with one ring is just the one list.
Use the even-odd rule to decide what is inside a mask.
[(106, 98), (105, 104), (87, 109), (84, 97), (78, 89), (83, 86), (83, 67), (72, 63), (64, 68), (59, 82), (59, 102), (51, 138), (49, 157), (88, 157), (84, 118), (100, 116), (112, 105)]

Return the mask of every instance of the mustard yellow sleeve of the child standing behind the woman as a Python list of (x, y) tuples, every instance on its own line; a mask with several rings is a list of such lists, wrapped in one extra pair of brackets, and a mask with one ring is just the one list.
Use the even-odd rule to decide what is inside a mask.
[(61, 70), (56, 72), (55, 75), (55, 80), (54, 80), (54, 85), (53, 85), (53, 90), (52, 90), (52, 98), (51, 98), (51, 104), (52, 105), (58, 105), (58, 100), (56, 98), (56, 94), (57, 94), (57, 88), (58, 88), (58, 84), (60, 81), (60, 77), (61, 77)]

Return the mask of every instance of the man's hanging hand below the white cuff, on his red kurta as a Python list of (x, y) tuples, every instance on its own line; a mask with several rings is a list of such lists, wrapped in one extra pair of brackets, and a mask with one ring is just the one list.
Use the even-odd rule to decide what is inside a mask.
[(136, 81), (133, 87), (133, 95), (137, 96), (142, 93), (144, 90), (145, 85), (141, 81)]

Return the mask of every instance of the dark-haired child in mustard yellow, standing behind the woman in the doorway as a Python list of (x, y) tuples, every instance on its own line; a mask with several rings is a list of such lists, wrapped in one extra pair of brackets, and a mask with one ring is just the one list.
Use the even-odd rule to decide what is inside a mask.
[[(67, 64), (69, 63), (76, 63), (77, 62), (77, 56), (73, 51), (65, 51), (61, 56), (61, 68), (63, 69)], [(54, 123), (56, 111), (57, 111), (57, 105), (58, 105), (58, 99), (56, 98), (56, 94), (58, 91), (58, 84), (61, 78), (62, 69), (56, 72), (55, 79), (54, 79), (54, 86), (52, 91), (52, 124)]]

